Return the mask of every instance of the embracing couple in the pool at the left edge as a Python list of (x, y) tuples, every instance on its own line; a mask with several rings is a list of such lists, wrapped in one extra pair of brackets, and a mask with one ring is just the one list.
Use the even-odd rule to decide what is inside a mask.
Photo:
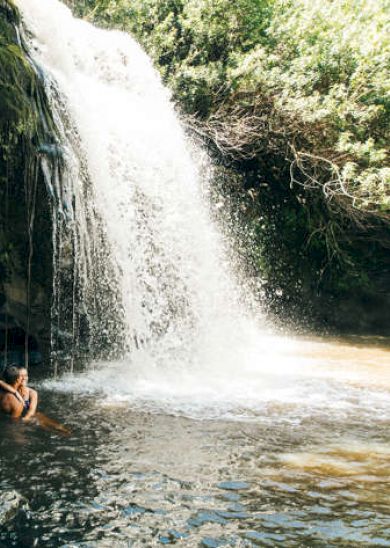
[(0, 380), (0, 411), (13, 419), (31, 420), (36, 413), (38, 393), (29, 388), (25, 367), (9, 365)]

